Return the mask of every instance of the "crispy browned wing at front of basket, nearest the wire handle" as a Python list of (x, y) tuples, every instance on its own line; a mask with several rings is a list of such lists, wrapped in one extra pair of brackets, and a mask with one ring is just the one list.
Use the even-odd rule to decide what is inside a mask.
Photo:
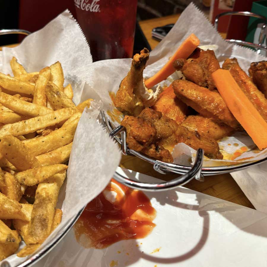
[[(122, 125), (126, 127), (129, 148), (142, 151), (153, 158), (173, 162), (170, 152), (180, 142), (196, 150), (203, 148), (205, 155), (210, 158), (222, 158), (214, 139), (179, 126), (174, 120), (150, 108), (145, 108), (139, 117), (125, 116)], [(144, 130), (141, 129), (143, 125)]]

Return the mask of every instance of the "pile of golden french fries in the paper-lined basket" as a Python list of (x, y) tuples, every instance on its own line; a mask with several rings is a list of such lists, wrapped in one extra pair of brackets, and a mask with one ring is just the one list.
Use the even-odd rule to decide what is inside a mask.
[[(14, 77), (0, 73), (0, 260), (33, 253), (61, 222), (55, 209), (77, 124), (71, 85), (60, 62), (28, 73), (16, 58)], [(65, 164), (63, 164), (65, 163)]]

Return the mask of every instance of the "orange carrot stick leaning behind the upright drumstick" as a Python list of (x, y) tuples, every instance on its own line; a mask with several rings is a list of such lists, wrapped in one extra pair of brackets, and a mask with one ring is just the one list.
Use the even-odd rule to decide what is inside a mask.
[(174, 73), (175, 69), (173, 63), (178, 58), (188, 58), (193, 51), (199, 45), (199, 39), (195, 34), (190, 34), (187, 39), (178, 47), (174, 55), (169, 59), (169, 61), (160, 69), (154, 76), (150, 77), (145, 81), (147, 88), (151, 88), (159, 82), (166, 80), (171, 74)]

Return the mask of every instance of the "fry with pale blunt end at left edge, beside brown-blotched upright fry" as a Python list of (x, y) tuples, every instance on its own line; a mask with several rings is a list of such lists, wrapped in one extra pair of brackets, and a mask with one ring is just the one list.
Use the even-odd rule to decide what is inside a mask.
[(0, 193), (0, 220), (20, 219), (29, 222), (31, 220), (31, 214), (25, 205), (30, 204), (20, 204), (18, 201), (9, 199)]

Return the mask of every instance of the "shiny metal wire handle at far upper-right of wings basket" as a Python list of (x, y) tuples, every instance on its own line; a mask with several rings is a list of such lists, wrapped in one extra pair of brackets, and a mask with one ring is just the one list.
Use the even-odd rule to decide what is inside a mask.
[(223, 17), (223, 16), (228, 16), (228, 15), (254, 17), (254, 18), (258, 18), (258, 19), (263, 20), (264, 23), (263, 23), (263, 26), (260, 29), (260, 36), (259, 36), (259, 41), (258, 41), (259, 44), (258, 45), (254, 44), (254, 43), (250, 43), (250, 42), (245, 42), (245, 41), (242, 41), (242, 40), (236, 40), (236, 39), (225, 39), (226, 42), (234, 43), (234, 44), (237, 44), (237, 45), (243, 45), (243, 46), (249, 46), (249, 47), (257, 48), (258, 49), (257, 50), (257, 54), (260, 53), (260, 50), (264, 50), (264, 51), (267, 52), (267, 47), (266, 46), (262, 46), (262, 43), (263, 43), (263, 32), (264, 32), (264, 30), (265, 30), (265, 28), (267, 26), (265, 17), (263, 17), (261, 15), (258, 15), (258, 14), (255, 14), (255, 13), (252, 13), (252, 12), (247, 12), (247, 11), (224, 12), (224, 13), (221, 13), (221, 14), (217, 15), (216, 18), (215, 18), (214, 28), (216, 30), (218, 28), (219, 18)]

